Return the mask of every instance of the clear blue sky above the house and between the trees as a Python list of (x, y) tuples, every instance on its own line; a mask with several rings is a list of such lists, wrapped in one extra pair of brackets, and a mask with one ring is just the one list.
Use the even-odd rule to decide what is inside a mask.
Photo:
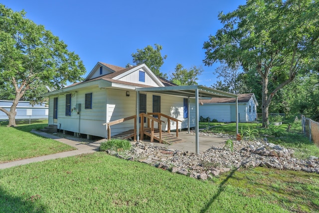
[[(203, 43), (222, 25), (220, 11), (235, 10), (245, 0), (1, 0), (5, 6), (26, 11), (26, 17), (42, 24), (77, 53), (87, 69), (98, 61), (123, 66), (132, 53), (160, 44), (167, 55), (160, 71), (202, 66), (198, 84), (210, 86), (218, 64), (204, 66)], [(85, 75), (85, 76), (86, 76)], [(84, 76), (84, 77), (85, 77)]]

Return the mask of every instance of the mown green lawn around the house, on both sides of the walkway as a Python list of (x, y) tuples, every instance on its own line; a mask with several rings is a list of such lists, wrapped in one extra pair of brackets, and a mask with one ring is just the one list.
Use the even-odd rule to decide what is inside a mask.
[[(1, 123), (0, 157), (56, 150), (55, 141), (29, 133), (46, 125), (39, 122), (16, 128)], [(309, 149), (309, 143), (288, 136), (291, 143), (274, 140), (300, 144), (301, 152)], [(0, 212), (313, 213), (319, 212), (319, 174), (249, 168), (199, 181), (98, 152), (0, 170)]]

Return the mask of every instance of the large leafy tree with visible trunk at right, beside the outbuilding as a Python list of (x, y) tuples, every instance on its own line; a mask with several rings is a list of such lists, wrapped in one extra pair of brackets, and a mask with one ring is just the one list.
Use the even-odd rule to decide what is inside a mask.
[[(247, 0), (236, 10), (219, 13), (223, 27), (204, 42), (205, 65), (216, 61), (256, 72), (263, 81), (263, 127), (274, 95), (296, 74), (318, 67), (318, 0)], [(274, 89), (269, 90), (273, 82)]]

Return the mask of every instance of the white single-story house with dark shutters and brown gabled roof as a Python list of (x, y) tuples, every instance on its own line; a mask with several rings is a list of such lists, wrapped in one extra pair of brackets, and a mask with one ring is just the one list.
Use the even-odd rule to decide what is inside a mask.
[[(88, 138), (113, 137), (132, 128), (140, 132), (144, 128), (140, 123), (147, 122), (141, 121), (140, 113), (161, 113), (152, 114), (161, 121), (156, 118), (152, 121), (155, 126), (160, 123), (162, 130), (195, 127), (199, 118), (199, 95), (237, 97), (198, 85), (176, 86), (156, 76), (145, 64), (124, 68), (103, 62), (98, 62), (83, 82), (44, 94), (49, 98), (48, 124)], [(116, 124), (111, 131), (102, 125), (111, 123)]]

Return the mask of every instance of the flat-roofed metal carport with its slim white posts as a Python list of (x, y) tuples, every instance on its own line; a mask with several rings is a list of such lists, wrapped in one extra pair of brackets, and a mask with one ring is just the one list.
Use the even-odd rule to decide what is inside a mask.
[[(188, 109), (189, 109), (189, 100), (191, 98), (195, 99), (195, 150), (196, 154), (199, 154), (199, 94), (201, 98), (235, 98), (236, 100), (236, 134), (238, 134), (238, 96), (236, 94), (223, 92), (220, 90), (211, 89), (201, 85), (192, 85), (192, 86), (166, 86), (166, 87), (146, 87), (146, 88), (136, 88), (137, 91), (137, 105), (136, 105), (136, 115), (139, 115), (140, 109), (140, 92), (152, 92), (159, 94), (168, 94), (174, 96), (181, 96), (188, 99)], [(188, 110), (188, 133), (189, 133), (189, 110)], [(139, 120), (137, 119), (137, 132), (140, 132)], [(178, 130), (176, 130), (178, 131)], [(137, 135), (137, 140), (140, 140), (139, 134)]]

